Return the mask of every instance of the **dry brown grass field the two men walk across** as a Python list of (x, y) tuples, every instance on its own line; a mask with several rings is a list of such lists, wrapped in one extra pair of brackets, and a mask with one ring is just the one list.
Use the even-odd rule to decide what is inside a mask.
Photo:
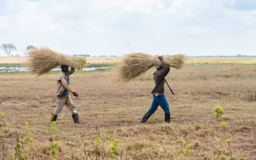
[[(141, 125), (152, 102), (153, 72), (129, 83), (118, 81), (115, 70), (70, 76), (70, 86), (79, 93), (79, 99), (72, 99), (85, 124), (74, 124), (63, 108), (57, 120), (60, 147), (56, 159), (100, 159), (97, 155), (102, 159), (256, 159), (256, 66), (171, 69), (166, 79), (175, 95), (167, 86), (165, 95), (172, 123), (164, 123), (159, 108), (148, 124)], [(49, 116), (56, 102), (57, 76), (58, 72), (42, 77), (0, 74), (0, 102), (6, 97), (0, 106), (7, 124), (1, 129), (4, 155), (15, 153), (16, 131), (26, 138), (28, 122), (36, 145), (29, 159), (51, 157)], [(221, 118), (214, 116), (217, 106), (225, 111)], [(221, 122), (226, 129), (221, 129)], [(27, 147), (25, 141), (25, 151)], [(3, 149), (3, 159), (1, 155)]]

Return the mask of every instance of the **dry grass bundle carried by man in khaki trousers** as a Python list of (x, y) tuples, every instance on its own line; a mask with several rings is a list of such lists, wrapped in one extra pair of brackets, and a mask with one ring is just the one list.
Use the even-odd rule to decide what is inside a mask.
[(81, 70), (86, 66), (86, 58), (84, 57), (65, 56), (49, 48), (35, 48), (29, 52), (29, 55), (29, 70), (38, 76), (47, 74), (59, 65), (68, 65), (77, 70)]

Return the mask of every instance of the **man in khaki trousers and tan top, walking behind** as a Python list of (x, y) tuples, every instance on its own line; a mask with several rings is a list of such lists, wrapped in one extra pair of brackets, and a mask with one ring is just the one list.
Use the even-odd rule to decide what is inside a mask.
[(61, 110), (63, 109), (63, 106), (66, 105), (67, 108), (72, 113), (72, 118), (75, 124), (84, 124), (83, 121), (79, 120), (76, 107), (74, 106), (74, 103), (72, 102), (72, 99), (69, 95), (69, 92), (70, 92), (70, 93), (73, 93), (75, 97), (78, 97), (78, 94), (74, 92), (69, 86), (69, 76), (74, 72), (75, 72), (75, 68), (71, 68), (71, 70), (68, 70), (68, 65), (61, 65), (61, 73), (57, 81), (58, 91), (57, 91), (56, 108), (54, 109), (53, 118), (51, 122), (57, 120), (57, 117), (61, 112)]

